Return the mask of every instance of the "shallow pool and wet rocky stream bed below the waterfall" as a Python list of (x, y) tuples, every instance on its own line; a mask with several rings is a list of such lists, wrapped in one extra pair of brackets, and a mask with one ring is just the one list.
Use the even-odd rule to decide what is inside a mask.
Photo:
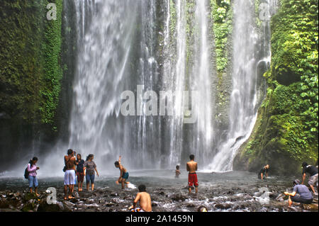
[[(317, 211), (318, 196), (312, 205), (295, 203), (288, 207), (284, 191), (292, 190), (294, 177), (270, 176), (261, 181), (257, 174), (245, 171), (227, 173), (198, 173), (198, 194), (189, 195), (187, 173), (174, 178), (174, 171), (130, 171), (130, 188), (121, 190), (116, 185), (118, 175), (96, 177), (94, 191), (78, 192), (74, 189), (74, 200), (63, 200), (63, 178), (44, 179), (39, 176), (40, 198), (26, 198), (28, 180), (21, 178), (0, 178), (0, 210), (23, 211), (128, 211), (133, 204), (138, 185), (145, 184), (152, 198), (153, 211), (188, 212), (197, 211), (205, 205), (208, 211), (281, 212)], [(57, 205), (47, 205), (47, 188), (57, 189)], [(193, 191), (194, 192), (194, 191)], [(26, 208), (28, 205), (28, 208)]]

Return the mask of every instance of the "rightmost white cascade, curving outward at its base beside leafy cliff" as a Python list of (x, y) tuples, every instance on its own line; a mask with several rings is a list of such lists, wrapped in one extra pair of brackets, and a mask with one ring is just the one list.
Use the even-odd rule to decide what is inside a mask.
[[(265, 4), (265, 3), (264, 3)], [(262, 89), (258, 84), (257, 67), (270, 63), (270, 16), (276, 4), (268, 0), (258, 33), (254, 1), (235, 0), (233, 30), (233, 91), (230, 98), (230, 129), (225, 142), (218, 145), (218, 153), (209, 169), (231, 171), (237, 149), (250, 137), (257, 119)], [(259, 17), (260, 17), (259, 15)]]

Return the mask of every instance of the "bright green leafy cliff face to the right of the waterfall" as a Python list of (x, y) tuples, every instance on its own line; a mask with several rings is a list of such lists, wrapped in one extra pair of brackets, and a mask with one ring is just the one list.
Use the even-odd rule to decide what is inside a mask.
[[(271, 162), (290, 174), (318, 159), (318, 1), (281, 1), (272, 18), (267, 98), (235, 165)], [(279, 165), (281, 164), (281, 165)], [(236, 167), (235, 167), (236, 168)]]

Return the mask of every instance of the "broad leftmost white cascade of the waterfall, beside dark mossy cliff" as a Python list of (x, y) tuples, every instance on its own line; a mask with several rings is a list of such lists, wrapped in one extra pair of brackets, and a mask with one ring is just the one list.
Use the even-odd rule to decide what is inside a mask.
[[(133, 1), (79, 1), (79, 53), (74, 79), (74, 103), (69, 123), (69, 147), (103, 157), (123, 149), (119, 112), (121, 92), (129, 74), (136, 5)], [(86, 12), (93, 11), (86, 26)], [(116, 122), (116, 123), (115, 123)]]

